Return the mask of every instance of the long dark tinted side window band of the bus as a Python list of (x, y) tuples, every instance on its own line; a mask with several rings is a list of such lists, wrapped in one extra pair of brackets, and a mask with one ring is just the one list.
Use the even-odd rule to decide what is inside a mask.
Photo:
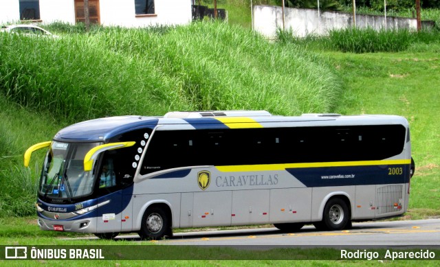
[(382, 160), (400, 154), (400, 125), (163, 130), (155, 132), (140, 174), (197, 165)]

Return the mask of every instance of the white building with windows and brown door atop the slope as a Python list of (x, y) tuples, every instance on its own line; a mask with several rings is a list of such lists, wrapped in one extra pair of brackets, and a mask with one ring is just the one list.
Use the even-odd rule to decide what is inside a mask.
[[(192, 0), (89, 0), (90, 20), (100, 25), (143, 27), (190, 23)], [(84, 0), (1, 0), (0, 23), (85, 21)]]

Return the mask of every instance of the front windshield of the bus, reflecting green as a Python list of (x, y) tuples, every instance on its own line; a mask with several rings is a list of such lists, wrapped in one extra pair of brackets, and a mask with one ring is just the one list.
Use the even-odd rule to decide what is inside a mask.
[(84, 171), (85, 154), (101, 143), (53, 141), (43, 165), (39, 194), (43, 198), (78, 198), (93, 192), (95, 174)]

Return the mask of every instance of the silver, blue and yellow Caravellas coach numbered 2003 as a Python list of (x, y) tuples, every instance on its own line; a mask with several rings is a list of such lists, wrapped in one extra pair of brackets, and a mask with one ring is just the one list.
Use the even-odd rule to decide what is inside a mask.
[(267, 111), (119, 116), (60, 130), (39, 178), (39, 227), (110, 239), (173, 229), (341, 230), (408, 208), (410, 130), (395, 115)]

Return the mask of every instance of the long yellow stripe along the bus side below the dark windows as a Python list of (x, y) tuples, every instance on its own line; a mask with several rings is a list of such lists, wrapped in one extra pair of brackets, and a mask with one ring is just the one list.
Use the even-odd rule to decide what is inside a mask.
[(370, 165), (401, 165), (410, 164), (410, 159), (391, 159), (388, 161), (335, 161), (316, 163), (285, 163), (285, 164), (263, 164), (263, 165), (230, 165), (216, 166), (220, 172), (261, 172), (261, 171), (283, 171), (286, 169), (300, 167), (347, 167), (347, 166), (370, 166)]

